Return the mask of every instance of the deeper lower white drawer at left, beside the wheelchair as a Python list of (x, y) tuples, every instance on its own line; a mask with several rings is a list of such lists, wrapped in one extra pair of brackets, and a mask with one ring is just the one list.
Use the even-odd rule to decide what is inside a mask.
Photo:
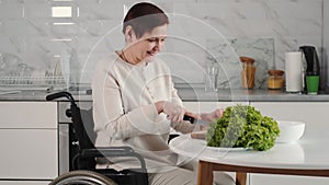
[(56, 129), (0, 129), (0, 178), (48, 180), (58, 176)]

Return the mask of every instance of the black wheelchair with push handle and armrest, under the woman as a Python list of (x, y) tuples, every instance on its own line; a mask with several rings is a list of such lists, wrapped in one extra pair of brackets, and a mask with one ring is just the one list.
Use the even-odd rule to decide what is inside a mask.
[[(144, 158), (131, 147), (95, 148), (95, 132), (93, 131), (92, 109), (80, 109), (69, 92), (57, 92), (46, 96), (47, 101), (66, 97), (70, 108), (66, 115), (71, 118), (79, 149), (72, 159), (73, 170), (59, 175), (49, 185), (86, 184), (86, 185), (148, 185), (148, 175)], [(97, 169), (98, 158), (135, 158), (140, 167)]]

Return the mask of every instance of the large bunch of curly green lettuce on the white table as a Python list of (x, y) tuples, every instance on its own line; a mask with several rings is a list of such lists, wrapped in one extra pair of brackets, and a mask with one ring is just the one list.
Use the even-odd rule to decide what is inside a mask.
[(280, 135), (277, 123), (250, 105), (229, 106), (212, 123), (206, 134), (208, 147), (241, 147), (264, 151)]

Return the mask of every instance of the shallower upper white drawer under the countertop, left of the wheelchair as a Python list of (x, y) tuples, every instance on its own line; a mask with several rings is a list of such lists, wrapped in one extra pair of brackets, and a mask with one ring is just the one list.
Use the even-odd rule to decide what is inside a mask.
[(57, 128), (56, 102), (0, 102), (0, 128)]

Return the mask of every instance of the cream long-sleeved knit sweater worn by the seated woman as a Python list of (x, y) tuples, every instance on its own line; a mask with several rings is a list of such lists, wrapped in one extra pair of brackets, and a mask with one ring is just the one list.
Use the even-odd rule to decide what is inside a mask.
[[(158, 114), (155, 102), (170, 101), (182, 105), (173, 88), (167, 65), (154, 59), (131, 65), (116, 54), (97, 65), (92, 81), (95, 146), (131, 144), (135, 150), (170, 153), (167, 139), (170, 127), (191, 132), (190, 123), (170, 123)], [(170, 157), (168, 157), (170, 158)]]

